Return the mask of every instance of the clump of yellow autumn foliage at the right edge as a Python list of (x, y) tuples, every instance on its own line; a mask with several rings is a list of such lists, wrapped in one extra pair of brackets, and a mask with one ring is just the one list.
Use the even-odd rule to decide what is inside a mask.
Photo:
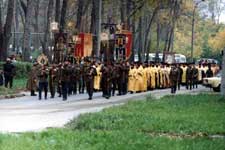
[(208, 43), (214, 52), (222, 50), (225, 47), (225, 30), (217, 33), (216, 36), (211, 37)]

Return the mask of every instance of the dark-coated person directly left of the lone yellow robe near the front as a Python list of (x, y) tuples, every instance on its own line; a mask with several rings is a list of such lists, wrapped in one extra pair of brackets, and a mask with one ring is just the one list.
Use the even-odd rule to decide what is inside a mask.
[(94, 92), (94, 77), (97, 75), (96, 66), (94, 64), (87, 67), (86, 70), (86, 88), (89, 96), (89, 100), (92, 100)]

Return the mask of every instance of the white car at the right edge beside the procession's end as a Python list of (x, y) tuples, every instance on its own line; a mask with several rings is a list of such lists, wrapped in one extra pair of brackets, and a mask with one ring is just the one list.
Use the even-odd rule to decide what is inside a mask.
[(215, 77), (204, 78), (203, 85), (210, 87), (214, 92), (220, 92), (222, 72), (220, 71)]

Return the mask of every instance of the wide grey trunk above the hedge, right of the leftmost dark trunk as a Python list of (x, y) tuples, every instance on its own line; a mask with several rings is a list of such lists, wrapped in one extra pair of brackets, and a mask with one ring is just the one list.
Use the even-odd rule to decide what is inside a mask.
[(34, 9), (34, 1), (27, 1), (27, 13), (25, 17), (24, 36), (23, 36), (23, 60), (29, 61), (30, 57), (30, 38), (31, 38), (31, 24), (32, 24), (32, 10)]

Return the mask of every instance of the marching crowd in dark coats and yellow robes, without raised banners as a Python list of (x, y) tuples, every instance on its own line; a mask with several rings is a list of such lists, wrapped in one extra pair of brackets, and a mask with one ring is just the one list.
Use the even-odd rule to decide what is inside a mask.
[(181, 86), (192, 90), (197, 88), (204, 77), (212, 77), (219, 71), (214, 64), (155, 64), (98, 62), (88, 59), (77, 63), (65, 61), (51, 66), (34, 63), (29, 74), (27, 88), (31, 96), (39, 100), (50, 97), (62, 97), (67, 100), (70, 95), (88, 93), (89, 100), (93, 93), (102, 91), (102, 96), (109, 99), (114, 95), (146, 92), (154, 89), (171, 88), (176, 93)]

